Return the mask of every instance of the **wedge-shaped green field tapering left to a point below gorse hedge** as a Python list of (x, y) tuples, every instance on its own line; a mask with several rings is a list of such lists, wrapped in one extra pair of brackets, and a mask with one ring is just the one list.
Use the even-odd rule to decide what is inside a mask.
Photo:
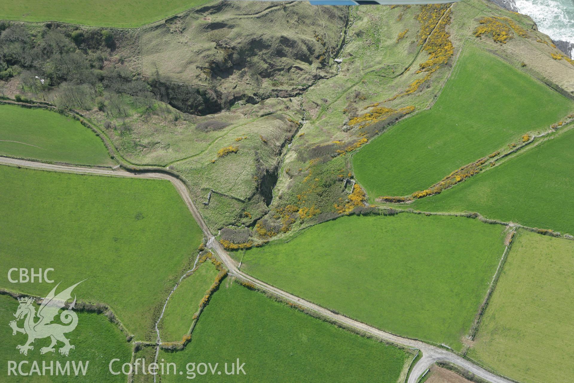
[(439, 195), (422, 211), (476, 211), (492, 219), (574, 234), (574, 129)]

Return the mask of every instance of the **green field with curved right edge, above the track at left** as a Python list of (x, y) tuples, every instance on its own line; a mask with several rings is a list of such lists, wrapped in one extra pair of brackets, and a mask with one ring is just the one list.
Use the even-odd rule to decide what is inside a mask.
[(106, 146), (75, 119), (0, 104), (0, 155), (81, 165), (110, 165)]

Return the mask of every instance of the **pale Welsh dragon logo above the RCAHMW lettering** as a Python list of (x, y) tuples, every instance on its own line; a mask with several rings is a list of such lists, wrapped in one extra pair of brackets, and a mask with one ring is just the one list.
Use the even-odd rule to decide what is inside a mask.
[[(83, 281), (80, 281), (72, 287), (60, 292), (58, 295), (55, 295), (56, 288), (60, 285), (57, 284), (48, 296), (42, 300), (42, 304), (40, 308), (38, 308), (37, 313), (33, 305), (34, 300), (31, 297), (18, 299), (20, 305), (18, 306), (16, 314), (14, 314), (16, 320), (10, 322), (10, 327), (13, 330), (12, 335), (16, 335), (17, 332), (28, 334), (28, 342), (26, 342), (25, 345), (16, 346), (16, 349), (20, 350), (20, 354), (28, 355), (28, 350), (34, 350), (34, 346), (31, 346), (34, 340), (47, 338), (48, 336), (52, 339), (52, 343), (48, 347), (42, 347), (40, 354), (55, 352), (54, 346), (56, 346), (57, 341), (64, 343), (64, 346), (58, 350), (62, 355), (68, 356), (69, 351), (75, 348), (75, 346), (70, 345), (69, 339), (64, 336), (65, 333), (73, 331), (77, 326), (77, 315), (72, 311), (76, 304), (75, 296), (72, 304), (60, 314), (61, 322), (67, 324), (67, 326), (52, 322), (60, 309), (65, 308), (66, 301), (72, 298), (71, 293), (73, 288), (82, 282)], [(34, 322), (36, 317), (38, 320)], [(17, 325), (17, 321), (22, 318), (25, 318), (24, 328), (20, 328)]]

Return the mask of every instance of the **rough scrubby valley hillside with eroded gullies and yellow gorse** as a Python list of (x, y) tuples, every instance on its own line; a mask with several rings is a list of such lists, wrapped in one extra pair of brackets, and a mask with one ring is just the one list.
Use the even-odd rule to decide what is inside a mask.
[[(467, 43), (574, 92), (572, 61), (534, 22), (482, 0), (222, 1), (135, 32), (17, 22), (2, 30), (4, 95), (78, 110), (129, 163), (183, 177), (211, 229), (250, 229), (247, 238), (227, 230), (231, 247), (369, 211), (352, 154), (432, 107)], [(35, 59), (76, 69), (51, 72)]]

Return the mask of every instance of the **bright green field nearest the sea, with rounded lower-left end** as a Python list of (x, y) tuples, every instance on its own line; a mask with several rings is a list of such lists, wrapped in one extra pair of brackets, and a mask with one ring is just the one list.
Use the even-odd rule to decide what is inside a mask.
[(408, 195), (573, 109), (564, 96), (467, 44), (435, 106), (360, 149), (355, 176), (371, 201)]

